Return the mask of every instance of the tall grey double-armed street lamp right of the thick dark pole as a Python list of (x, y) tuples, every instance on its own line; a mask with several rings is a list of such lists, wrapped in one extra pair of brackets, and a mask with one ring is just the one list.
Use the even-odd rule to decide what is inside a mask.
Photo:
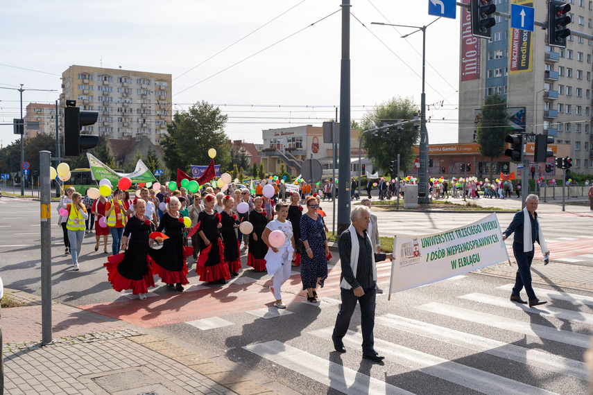
[(418, 196), (428, 199), (427, 194), (427, 180), (428, 180), (428, 131), (427, 131), (427, 99), (424, 91), (424, 85), (426, 82), (426, 49), (427, 49), (427, 27), (431, 26), (434, 22), (438, 21), (439, 18), (431, 21), (426, 26), (409, 26), (409, 25), (395, 25), (385, 24), (383, 22), (371, 22), (372, 25), (382, 26), (397, 26), (401, 28), (416, 28), (418, 30), (412, 33), (403, 35), (402, 38), (413, 35), (418, 31), (422, 31), (422, 94), (420, 95), (420, 170), (418, 171)]

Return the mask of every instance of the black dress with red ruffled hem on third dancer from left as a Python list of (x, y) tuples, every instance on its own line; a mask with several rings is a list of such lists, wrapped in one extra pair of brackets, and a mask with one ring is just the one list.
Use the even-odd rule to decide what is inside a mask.
[[(221, 214), (219, 213), (214, 212), (209, 214), (206, 211), (202, 211), (198, 214), (198, 223), (200, 224), (198, 232), (203, 231), (204, 236), (210, 242), (209, 246), (200, 243), (202, 249), (198, 258), (198, 264), (196, 265), (196, 273), (200, 274), (200, 281), (230, 279), (229, 267), (225, 263), (225, 246), (223, 245), (221, 232), (217, 227), (218, 222), (221, 222)], [(235, 241), (236, 244), (237, 241)], [(209, 252), (205, 252), (207, 248), (209, 248)]]

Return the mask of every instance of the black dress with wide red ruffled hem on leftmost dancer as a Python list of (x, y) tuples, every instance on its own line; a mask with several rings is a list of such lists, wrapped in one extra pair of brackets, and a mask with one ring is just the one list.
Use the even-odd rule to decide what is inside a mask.
[[(131, 236), (130, 236), (131, 234)], [(108, 279), (114, 290), (132, 290), (134, 295), (148, 292), (148, 287), (155, 286), (151, 271), (148, 252), (148, 235), (151, 234), (151, 225), (146, 225), (144, 220), (133, 216), (128, 220), (123, 236), (128, 237), (126, 252), (109, 256), (107, 267)]]

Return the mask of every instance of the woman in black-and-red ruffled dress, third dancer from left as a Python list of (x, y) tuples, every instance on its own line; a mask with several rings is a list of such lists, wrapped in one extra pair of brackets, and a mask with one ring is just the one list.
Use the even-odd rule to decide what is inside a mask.
[[(202, 201), (205, 209), (198, 214), (198, 234), (203, 243), (200, 243), (202, 250), (196, 273), (200, 274), (200, 281), (225, 284), (230, 279), (230, 272), (225, 262), (225, 246), (221, 238), (221, 214), (214, 211), (216, 195), (210, 193)], [(237, 245), (237, 242), (234, 245)]]

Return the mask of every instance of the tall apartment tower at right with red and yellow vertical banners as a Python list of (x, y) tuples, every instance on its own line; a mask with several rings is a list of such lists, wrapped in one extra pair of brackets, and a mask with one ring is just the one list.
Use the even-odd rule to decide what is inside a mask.
[[(547, 1), (493, 3), (501, 12), (510, 12), (511, 3), (534, 7), (535, 21), (547, 21)], [(567, 28), (592, 34), (593, 1), (568, 3), (572, 23)], [(574, 159), (573, 170), (593, 173), (592, 40), (571, 35), (566, 49), (551, 47), (547, 45), (547, 30), (538, 26), (533, 32), (513, 29), (504, 17), (496, 17), (490, 40), (479, 39), (472, 37), (469, 10), (463, 8), (462, 15), (459, 143), (474, 141), (479, 109), (486, 97), (498, 93), (506, 98), (509, 114), (515, 116), (517, 123), (510, 125), (517, 132), (524, 129), (528, 133), (544, 133), (553, 136), (557, 144), (568, 144)], [(532, 146), (528, 146), (527, 155), (533, 155)], [(499, 158), (505, 160), (508, 158)], [(484, 173), (488, 173), (486, 169)]]

